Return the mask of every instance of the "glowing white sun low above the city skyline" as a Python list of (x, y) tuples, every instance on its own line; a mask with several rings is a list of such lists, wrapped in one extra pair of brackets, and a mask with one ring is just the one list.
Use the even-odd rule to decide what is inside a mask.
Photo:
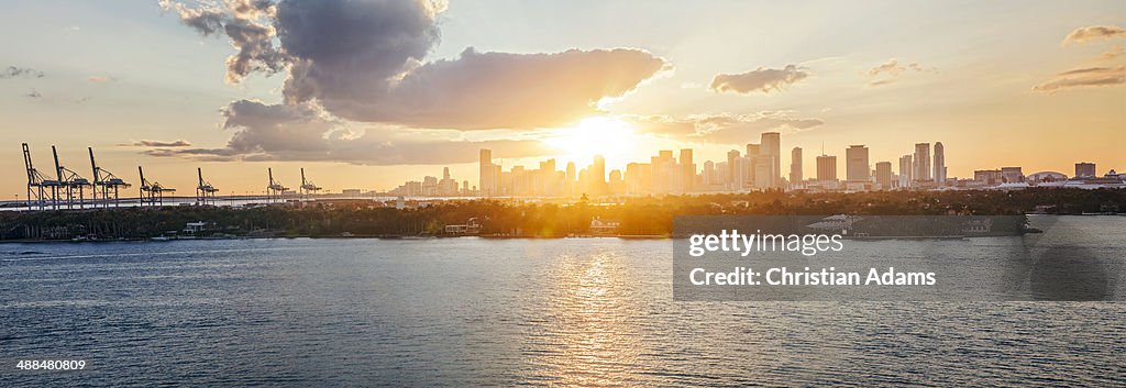
[(544, 141), (558, 148), (572, 161), (590, 161), (595, 155), (606, 159), (628, 157), (637, 138), (628, 123), (611, 117), (589, 117), (579, 125), (555, 130)]

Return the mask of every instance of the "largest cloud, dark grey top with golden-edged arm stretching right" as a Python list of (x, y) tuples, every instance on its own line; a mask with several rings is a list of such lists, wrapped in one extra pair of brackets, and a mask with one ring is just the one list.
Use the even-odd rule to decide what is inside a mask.
[[(287, 73), (286, 103), (315, 102), (349, 120), (450, 129), (535, 128), (596, 112), (661, 70), (634, 48), (562, 53), (477, 52), (426, 62), (440, 38), (430, 0), (227, 0), (190, 8), (161, 2), (203, 35), (223, 31), (239, 51), (227, 80)], [(276, 42), (276, 43), (275, 43)], [(536, 101), (536, 103), (528, 103)]]

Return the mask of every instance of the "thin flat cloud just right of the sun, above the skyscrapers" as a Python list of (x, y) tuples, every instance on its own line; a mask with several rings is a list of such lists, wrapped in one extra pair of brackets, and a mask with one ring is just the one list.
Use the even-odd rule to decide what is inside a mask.
[(761, 111), (749, 115), (714, 114), (672, 117), (667, 115), (623, 116), (642, 133), (686, 142), (745, 144), (757, 142), (763, 132), (797, 132), (825, 123), (817, 118), (801, 118), (792, 112)]

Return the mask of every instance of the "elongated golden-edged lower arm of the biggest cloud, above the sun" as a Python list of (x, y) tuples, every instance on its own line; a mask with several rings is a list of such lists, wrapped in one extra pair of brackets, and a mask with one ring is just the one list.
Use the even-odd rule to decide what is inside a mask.
[(599, 112), (599, 100), (628, 93), (665, 66), (632, 48), (509, 54), (470, 47), (414, 69), (383, 92), (322, 92), (320, 101), (342, 118), (423, 128), (561, 126)]

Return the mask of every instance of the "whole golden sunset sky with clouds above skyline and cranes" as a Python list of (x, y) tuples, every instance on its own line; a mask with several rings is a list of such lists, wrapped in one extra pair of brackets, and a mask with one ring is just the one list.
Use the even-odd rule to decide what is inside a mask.
[[(942, 142), (950, 177), (1126, 170), (1123, 1), (10, 1), (0, 195), (98, 164), (190, 195), (476, 184), (477, 150), (582, 168), (780, 132), (784, 172)], [(842, 170), (842, 166), (839, 166)], [(7, 193), (5, 193), (7, 192)]]

